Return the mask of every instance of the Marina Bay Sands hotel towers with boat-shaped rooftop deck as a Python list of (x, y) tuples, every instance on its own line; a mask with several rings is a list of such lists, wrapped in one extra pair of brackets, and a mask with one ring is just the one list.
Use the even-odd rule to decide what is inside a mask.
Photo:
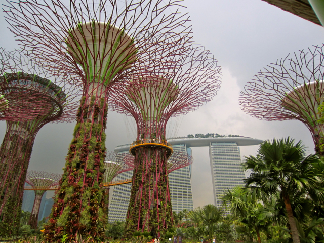
[[(214, 203), (222, 207), (221, 196), (224, 191), (243, 184), (245, 178), (241, 169), (239, 146), (258, 145), (262, 140), (248, 137), (214, 137), (214, 138), (177, 138), (169, 139), (174, 151), (191, 155), (192, 147), (209, 147)], [(129, 154), (130, 145), (115, 148), (116, 162), (122, 163), (123, 156)], [(197, 161), (197, 159), (195, 160)], [(191, 166), (175, 170), (169, 174), (172, 210), (180, 212), (193, 210), (191, 191)], [(194, 173), (194, 172), (193, 172)], [(115, 180), (132, 178), (133, 171), (119, 174)], [(113, 188), (109, 204), (109, 222), (125, 221), (131, 195), (132, 184), (117, 185)]]

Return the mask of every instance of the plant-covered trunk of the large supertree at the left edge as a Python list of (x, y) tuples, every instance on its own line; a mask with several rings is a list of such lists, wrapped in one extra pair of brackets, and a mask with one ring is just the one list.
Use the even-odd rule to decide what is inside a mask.
[[(19, 126), (18, 126), (19, 125)], [(0, 159), (0, 234), (17, 235), (27, 168), (34, 143), (34, 131), (25, 123), (7, 121), (7, 132), (1, 145)]]

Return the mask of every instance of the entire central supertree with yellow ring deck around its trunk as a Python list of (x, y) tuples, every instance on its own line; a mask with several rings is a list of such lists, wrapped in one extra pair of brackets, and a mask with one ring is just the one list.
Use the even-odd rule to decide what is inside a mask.
[(186, 48), (177, 62), (169, 55), (163, 62), (170, 66), (161, 63), (145, 73), (133, 73), (129, 85), (117, 84), (110, 95), (112, 109), (133, 116), (137, 125), (137, 141), (130, 148), (135, 169), (125, 238), (135, 230), (159, 237), (173, 225), (167, 176), (173, 150), (166, 141), (167, 121), (210, 101), (220, 87), (220, 67), (209, 51)]

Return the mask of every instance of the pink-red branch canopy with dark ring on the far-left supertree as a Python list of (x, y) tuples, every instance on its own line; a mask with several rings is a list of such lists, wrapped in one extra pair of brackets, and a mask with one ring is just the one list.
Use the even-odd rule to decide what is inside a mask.
[(42, 124), (74, 120), (80, 90), (49, 75), (20, 51), (3, 51), (2, 57), (6, 64), (2, 66), (0, 94), (8, 100), (8, 106), (0, 113), (0, 119), (22, 121), (42, 117)]

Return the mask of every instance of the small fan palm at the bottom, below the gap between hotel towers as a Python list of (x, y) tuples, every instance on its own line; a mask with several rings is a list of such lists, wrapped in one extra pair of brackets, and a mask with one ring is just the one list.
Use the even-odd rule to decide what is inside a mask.
[(197, 224), (198, 228), (205, 234), (208, 240), (212, 243), (215, 236), (217, 223), (223, 219), (223, 210), (215, 205), (208, 204), (203, 208), (196, 208), (188, 213), (191, 221)]

